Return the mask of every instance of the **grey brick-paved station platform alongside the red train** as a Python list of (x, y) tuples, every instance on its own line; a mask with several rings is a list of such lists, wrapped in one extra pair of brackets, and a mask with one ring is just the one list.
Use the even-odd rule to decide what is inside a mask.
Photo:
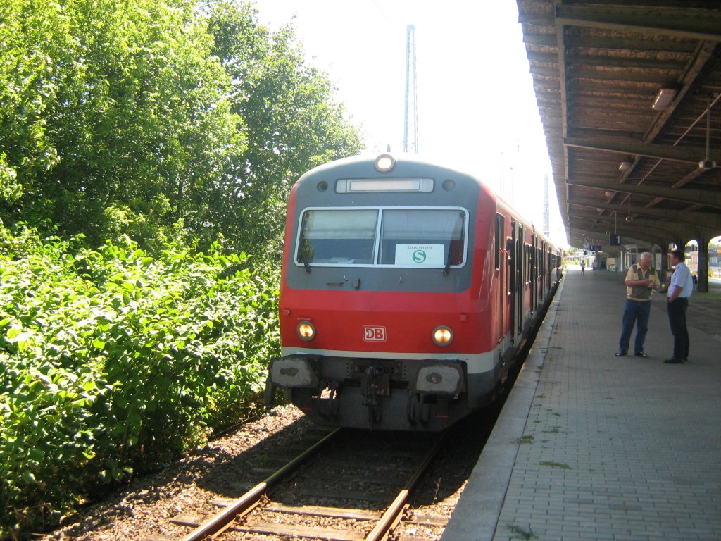
[(721, 284), (709, 290), (689, 302), (689, 362), (664, 364), (665, 295), (647, 359), (616, 357), (623, 276), (568, 270), (442, 541), (721, 540)]

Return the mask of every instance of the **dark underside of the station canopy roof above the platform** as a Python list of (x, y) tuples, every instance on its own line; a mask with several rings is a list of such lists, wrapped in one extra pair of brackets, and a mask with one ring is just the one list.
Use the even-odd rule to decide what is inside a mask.
[(721, 234), (721, 1), (518, 0), (569, 242)]

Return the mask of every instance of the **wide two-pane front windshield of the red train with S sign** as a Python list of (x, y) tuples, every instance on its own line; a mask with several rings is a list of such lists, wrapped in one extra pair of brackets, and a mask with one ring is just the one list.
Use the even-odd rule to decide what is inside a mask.
[(460, 267), (467, 221), (463, 208), (307, 208), (296, 265)]

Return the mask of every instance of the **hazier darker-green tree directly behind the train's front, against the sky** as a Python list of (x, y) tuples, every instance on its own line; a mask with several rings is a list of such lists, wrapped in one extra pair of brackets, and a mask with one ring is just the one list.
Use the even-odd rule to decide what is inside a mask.
[(311, 167), (357, 154), (361, 138), (333, 101), (327, 76), (306, 66), (293, 27), (270, 35), (252, 5), (221, 0), (208, 6), (208, 31), (248, 137), (241, 159), (205, 194), (208, 219), (236, 249), (277, 252), (293, 182)]

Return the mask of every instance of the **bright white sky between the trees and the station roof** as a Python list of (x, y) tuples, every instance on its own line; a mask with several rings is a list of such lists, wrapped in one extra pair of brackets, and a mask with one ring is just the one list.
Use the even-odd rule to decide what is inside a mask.
[(415, 27), (417, 148), (473, 172), (567, 245), (513, 0), (255, 0), (258, 22), (291, 24), (325, 71), (367, 151), (403, 151), (407, 27)]

